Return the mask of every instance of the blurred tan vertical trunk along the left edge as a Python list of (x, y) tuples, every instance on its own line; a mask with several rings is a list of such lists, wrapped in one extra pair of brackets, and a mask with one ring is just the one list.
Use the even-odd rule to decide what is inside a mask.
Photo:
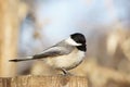
[(18, 0), (0, 0), (0, 77), (15, 75), (18, 35)]

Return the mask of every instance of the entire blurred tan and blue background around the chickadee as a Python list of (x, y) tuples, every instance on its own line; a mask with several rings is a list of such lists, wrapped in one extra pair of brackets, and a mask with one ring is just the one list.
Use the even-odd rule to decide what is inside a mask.
[(90, 87), (130, 87), (129, 9), (129, 0), (0, 0), (0, 76), (61, 73), (42, 61), (8, 60), (82, 33), (87, 55), (69, 72), (86, 76)]

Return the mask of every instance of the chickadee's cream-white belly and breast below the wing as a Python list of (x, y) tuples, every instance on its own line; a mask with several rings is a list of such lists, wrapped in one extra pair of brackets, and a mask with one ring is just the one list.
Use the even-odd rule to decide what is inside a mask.
[(84, 52), (75, 49), (72, 53), (47, 59), (47, 63), (55, 69), (73, 69), (83, 59)]

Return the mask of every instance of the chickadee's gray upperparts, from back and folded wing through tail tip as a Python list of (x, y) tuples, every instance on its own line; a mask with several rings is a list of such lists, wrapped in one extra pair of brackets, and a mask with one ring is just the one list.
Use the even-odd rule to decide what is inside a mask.
[(74, 50), (74, 47), (65, 45), (64, 42), (60, 42), (47, 50), (44, 50), (43, 52), (39, 53), (39, 54), (35, 54), (32, 57), (26, 57), (26, 59), (13, 59), (13, 60), (9, 60), (11, 62), (21, 62), (21, 61), (29, 61), (29, 60), (37, 60), (37, 59), (44, 59), (48, 57), (57, 57), (57, 55), (64, 55), (64, 54), (68, 54)]

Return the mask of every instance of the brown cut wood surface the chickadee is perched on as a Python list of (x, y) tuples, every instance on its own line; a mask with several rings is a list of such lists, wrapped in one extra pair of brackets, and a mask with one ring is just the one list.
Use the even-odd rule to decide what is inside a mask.
[(82, 76), (1, 77), (0, 87), (88, 87), (88, 80)]

